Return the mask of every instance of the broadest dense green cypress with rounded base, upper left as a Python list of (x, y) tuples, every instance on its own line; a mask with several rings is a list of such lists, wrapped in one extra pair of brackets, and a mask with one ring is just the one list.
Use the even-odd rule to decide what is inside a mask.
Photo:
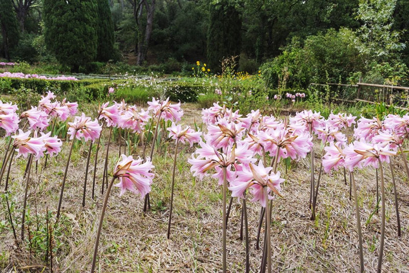
[(97, 57), (97, 0), (44, 0), (45, 39), (57, 60), (78, 72)]

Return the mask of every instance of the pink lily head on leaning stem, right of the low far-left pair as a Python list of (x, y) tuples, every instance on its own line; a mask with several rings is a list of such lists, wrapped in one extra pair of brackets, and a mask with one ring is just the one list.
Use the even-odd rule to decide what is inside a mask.
[[(91, 118), (85, 117), (82, 113), (81, 117), (75, 117), (74, 122), (69, 122), (67, 134), (71, 135), (70, 140), (77, 138), (80, 140), (84, 138), (85, 141), (92, 140), (93, 142), (99, 138), (102, 126), (98, 123), (98, 120), (94, 121)], [(74, 135), (75, 134), (75, 135)]]

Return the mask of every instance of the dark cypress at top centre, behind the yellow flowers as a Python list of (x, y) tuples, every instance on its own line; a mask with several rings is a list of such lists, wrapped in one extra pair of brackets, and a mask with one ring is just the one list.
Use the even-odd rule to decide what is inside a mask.
[(241, 18), (233, 4), (223, 0), (210, 5), (207, 59), (213, 71), (220, 71), (223, 58), (240, 55)]

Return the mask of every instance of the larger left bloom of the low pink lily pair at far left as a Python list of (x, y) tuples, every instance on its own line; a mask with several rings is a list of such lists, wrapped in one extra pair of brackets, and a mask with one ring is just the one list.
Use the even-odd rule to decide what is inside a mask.
[(46, 151), (46, 145), (41, 138), (30, 138), (31, 131), (23, 132), (18, 130), (17, 135), (13, 135), (14, 139), (13, 147), (18, 152), (17, 157), (20, 155), (27, 158), (29, 153), (32, 153), (35, 157), (39, 158)]

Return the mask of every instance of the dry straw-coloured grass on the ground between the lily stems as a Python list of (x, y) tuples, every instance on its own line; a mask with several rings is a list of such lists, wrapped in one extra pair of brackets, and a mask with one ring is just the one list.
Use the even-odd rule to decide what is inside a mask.
[[(192, 124), (199, 117), (194, 105), (184, 107), (185, 122)], [(1, 147), (4, 147), (4, 143)], [(29, 206), (31, 218), (44, 216), (46, 206), (55, 213), (67, 147), (53, 158), (50, 168), (38, 175), (33, 173), (30, 184)], [(102, 180), (101, 157), (98, 165), (97, 198), (92, 201), (87, 191), (86, 206), (81, 207), (82, 184), (88, 145), (78, 145), (67, 176), (63, 200), (63, 217), (59, 224), (61, 245), (54, 254), (54, 272), (86, 272), (92, 259), (97, 221), (102, 207), (100, 193)], [(116, 162), (118, 147), (111, 146), (110, 167)], [(195, 180), (187, 158), (192, 149), (183, 147), (176, 171), (174, 214), (171, 239), (166, 238), (168, 204), (173, 146), (164, 146), (156, 154), (154, 172), (156, 177), (151, 194), (152, 210), (143, 213), (143, 200), (130, 192), (119, 197), (114, 188), (105, 215), (99, 247), (100, 272), (220, 272), (221, 271), (221, 191), (214, 179)], [(169, 150), (171, 153), (169, 154)], [(165, 152), (166, 151), (166, 152)], [(101, 154), (101, 153), (100, 153)], [(93, 162), (93, 158), (92, 158)], [(317, 160), (319, 162), (319, 160)], [(317, 163), (319, 164), (319, 163)], [(12, 168), (12, 200), (17, 205), (14, 212), (20, 217), (24, 193), (22, 170), (25, 161), (17, 160)], [(274, 271), (306, 272), (357, 272), (359, 270), (358, 238), (353, 200), (349, 200), (349, 186), (344, 185), (342, 172), (322, 177), (318, 197), (316, 221), (309, 220), (309, 162), (302, 160), (285, 174), (284, 198), (276, 198), (272, 210), (271, 244)], [(319, 166), (318, 166), (319, 167)], [(385, 166), (387, 225), (383, 270), (385, 272), (409, 271), (409, 185), (403, 166), (397, 166), (397, 187), (402, 225), (402, 237), (397, 237), (396, 215), (389, 168)], [(93, 167), (90, 167), (92, 173)], [(367, 168), (356, 174), (361, 207), (365, 266), (368, 272), (376, 270), (379, 245), (380, 215), (375, 214), (366, 222), (375, 208), (375, 170)], [(92, 179), (88, 176), (88, 189)], [(1, 187), (3, 187), (4, 183)], [(3, 188), (2, 188), (3, 189)], [(251, 246), (251, 272), (257, 272), (261, 250), (256, 251), (257, 222), (260, 206), (248, 202), (249, 240)], [(238, 239), (240, 204), (234, 200), (228, 226), (228, 268), (230, 272), (244, 271), (244, 244)], [(6, 212), (1, 211), (3, 224)], [(53, 218), (54, 221), (54, 218)], [(35, 229), (35, 221), (31, 225)], [(17, 226), (17, 234), (19, 234)], [(32, 255), (29, 249), (18, 249), (12, 232), (0, 230), (0, 267), (3, 272), (41, 272), (43, 255)], [(262, 230), (263, 233), (263, 230)], [(27, 237), (27, 236), (26, 236)], [(21, 242), (20, 242), (21, 244)], [(27, 243), (25, 245), (28, 245)], [(41, 252), (40, 252), (41, 253)], [(30, 270), (28, 269), (30, 267)], [(38, 267), (34, 267), (38, 266)], [(47, 267), (44, 272), (49, 272)]]

